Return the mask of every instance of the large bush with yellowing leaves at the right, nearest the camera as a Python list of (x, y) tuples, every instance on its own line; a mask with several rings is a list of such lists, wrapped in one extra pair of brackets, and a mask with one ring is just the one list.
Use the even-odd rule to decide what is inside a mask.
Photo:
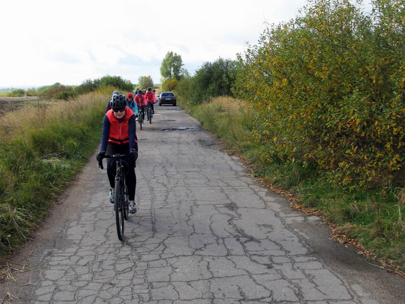
[[(349, 188), (403, 186), (405, 7), (314, 0), (239, 57), (234, 92), (267, 157), (325, 169)], [(248, 93), (247, 93), (248, 92)]]

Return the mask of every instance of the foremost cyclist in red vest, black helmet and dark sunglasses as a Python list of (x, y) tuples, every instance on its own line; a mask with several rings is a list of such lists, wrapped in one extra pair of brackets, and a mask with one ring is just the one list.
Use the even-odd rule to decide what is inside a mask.
[[(123, 94), (114, 94), (110, 100), (111, 109), (107, 111), (103, 120), (103, 131), (101, 134), (101, 147), (96, 159), (101, 161), (105, 154), (129, 154), (123, 158), (127, 163), (128, 172), (126, 181), (130, 204), (130, 213), (137, 211), (135, 205), (135, 161), (138, 158), (138, 139), (135, 128), (134, 112), (126, 105), (127, 101)], [(110, 182), (109, 200), (114, 203), (114, 179), (115, 170), (111, 166), (112, 158), (107, 159), (107, 175)]]

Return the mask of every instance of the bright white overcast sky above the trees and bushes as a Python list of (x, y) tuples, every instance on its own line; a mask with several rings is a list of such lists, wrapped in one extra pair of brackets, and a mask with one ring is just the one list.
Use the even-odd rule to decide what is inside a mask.
[(0, 87), (77, 85), (103, 75), (160, 83), (168, 51), (190, 73), (235, 58), (264, 22), (287, 21), (305, 0), (21, 1), (0, 4)]

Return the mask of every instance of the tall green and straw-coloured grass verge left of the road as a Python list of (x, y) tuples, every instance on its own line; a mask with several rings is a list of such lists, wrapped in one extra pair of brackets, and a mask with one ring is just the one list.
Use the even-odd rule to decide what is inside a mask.
[(0, 117), (0, 257), (15, 250), (93, 153), (110, 90)]

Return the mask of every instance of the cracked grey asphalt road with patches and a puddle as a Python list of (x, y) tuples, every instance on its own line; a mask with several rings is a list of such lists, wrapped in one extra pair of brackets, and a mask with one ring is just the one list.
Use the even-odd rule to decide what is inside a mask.
[[(0, 284), (32, 303), (404, 303), (403, 278), (328, 239), (176, 107), (138, 132), (138, 213), (116, 236), (94, 157)], [(137, 126), (138, 128), (138, 126)]]

